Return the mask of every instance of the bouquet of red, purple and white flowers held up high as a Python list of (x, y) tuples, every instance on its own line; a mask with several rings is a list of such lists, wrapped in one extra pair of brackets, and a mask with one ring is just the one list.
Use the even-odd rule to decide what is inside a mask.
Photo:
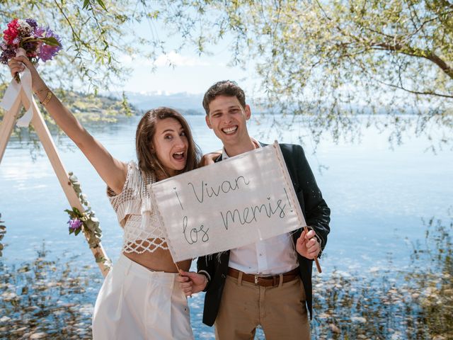
[[(0, 62), (8, 64), (8, 61), (16, 55), (28, 57), (33, 64), (39, 60), (47, 62), (51, 60), (62, 44), (59, 36), (50, 28), (38, 27), (33, 19), (14, 19), (8, 23), (8, 28), (3, 32), (3, 42), (0, 43)], [(14, 77), (18, 83), (21, 79), (18, 74)]]

